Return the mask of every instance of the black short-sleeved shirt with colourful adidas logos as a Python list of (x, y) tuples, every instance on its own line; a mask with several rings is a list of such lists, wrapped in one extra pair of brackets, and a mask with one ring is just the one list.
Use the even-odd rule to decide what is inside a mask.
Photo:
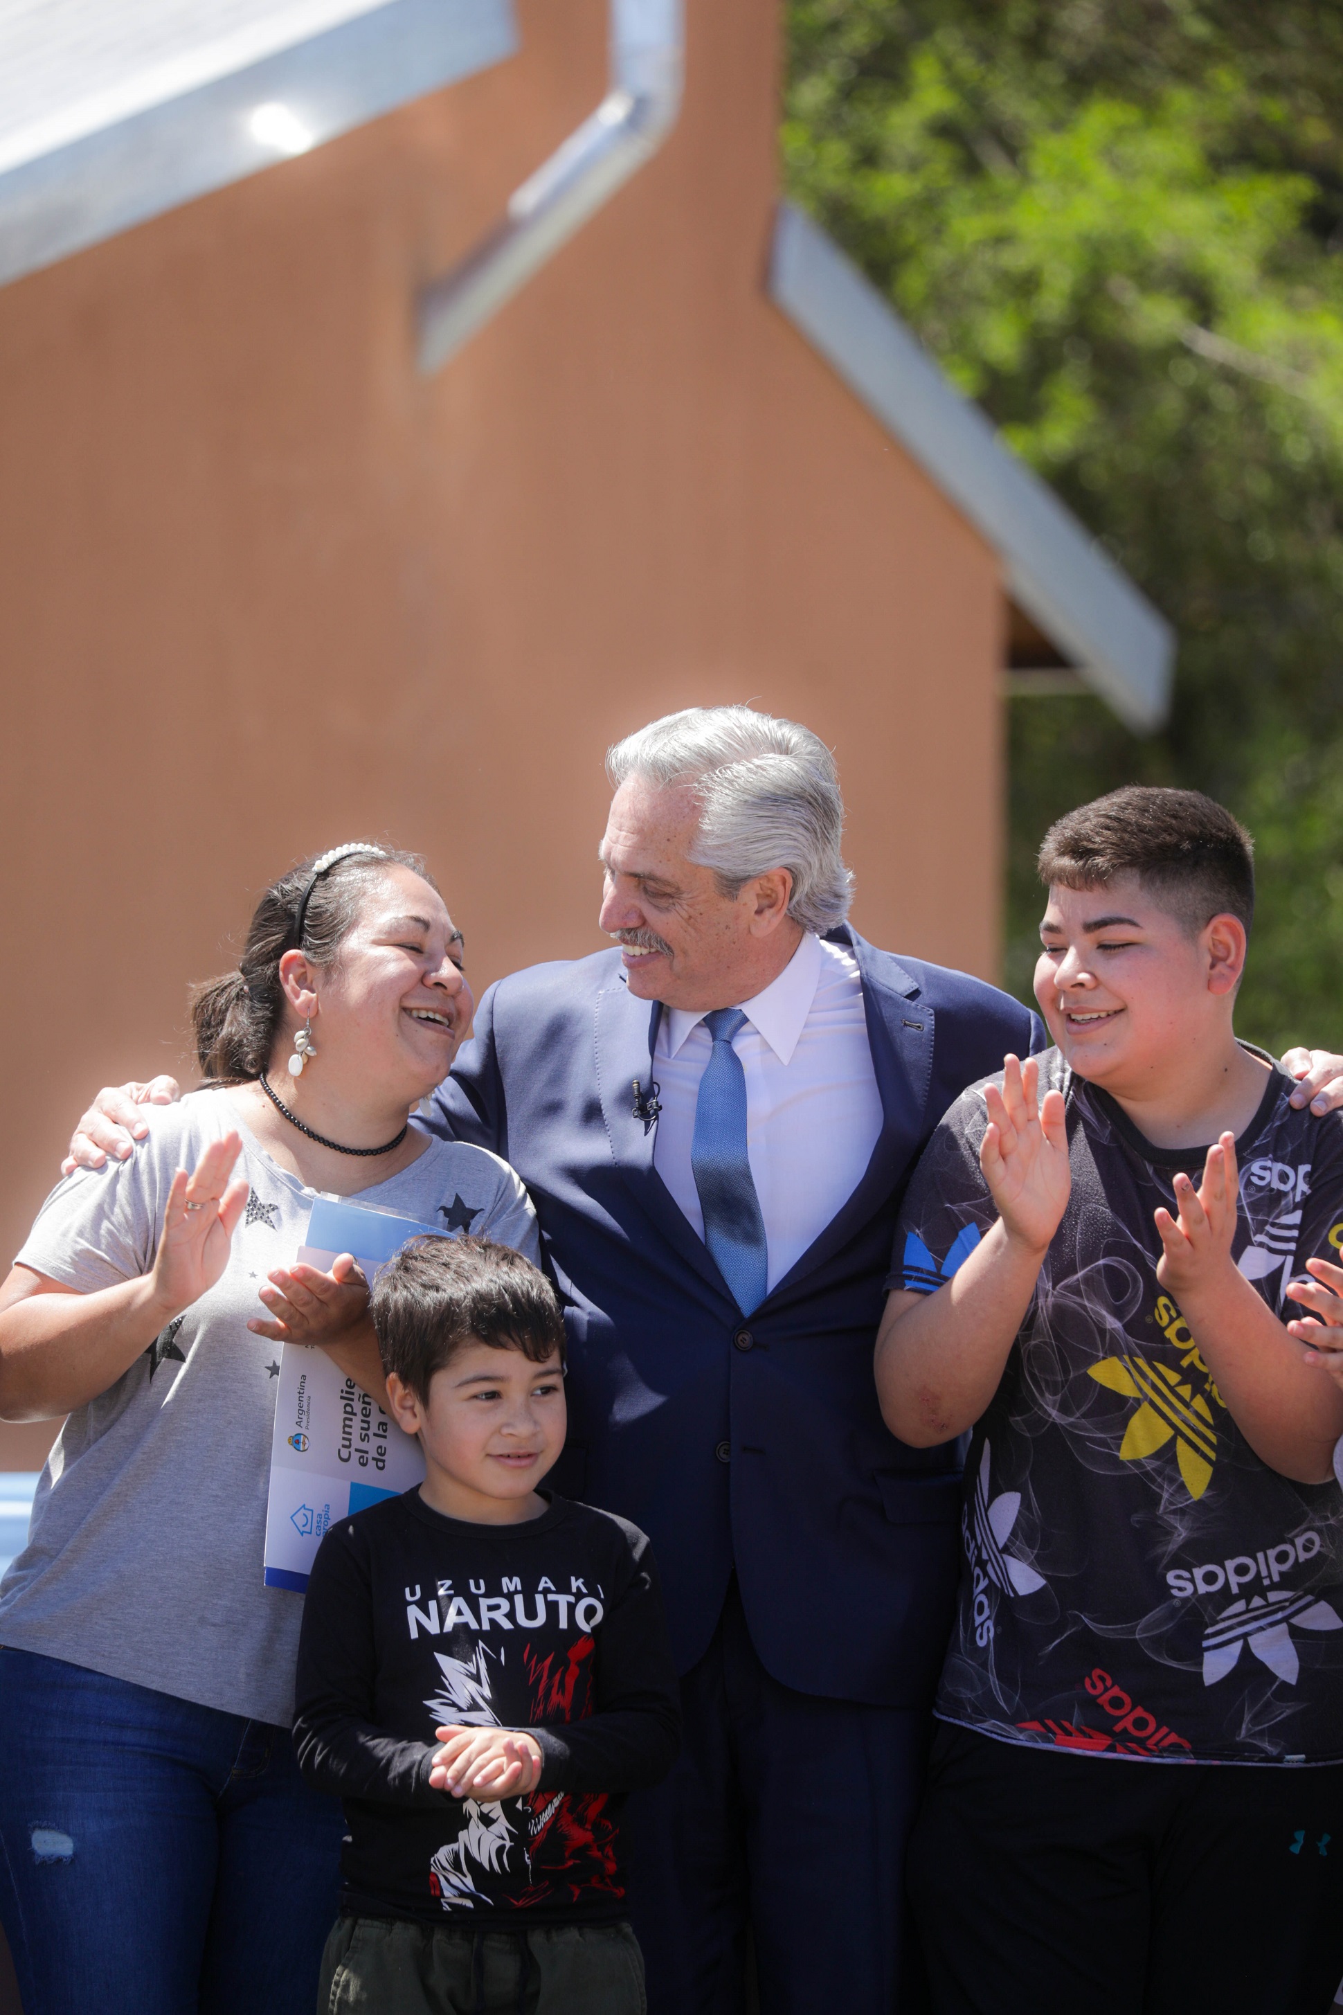
[[(1152, 1147), (1057, 1050), (1037, 1062), (1067, 1102), (1073, 1189), (971, 1437), (936, 1713), (1093, 1755), (1337, 1761), (1343, 1495), (1260, 1463), (1156, 1280), (1152, 1215), (1206, 1149)], [(1275, 1070), (1236, 1143), (1232, 1249), (1281, 1320), (1289, 1280), (1343, 1243), (1343, 1118), (1291, 1090)], [(995, 1223), (985, 1124), (973, 1086), (918, 1163), (888, 1288), (932, 1294)]]

